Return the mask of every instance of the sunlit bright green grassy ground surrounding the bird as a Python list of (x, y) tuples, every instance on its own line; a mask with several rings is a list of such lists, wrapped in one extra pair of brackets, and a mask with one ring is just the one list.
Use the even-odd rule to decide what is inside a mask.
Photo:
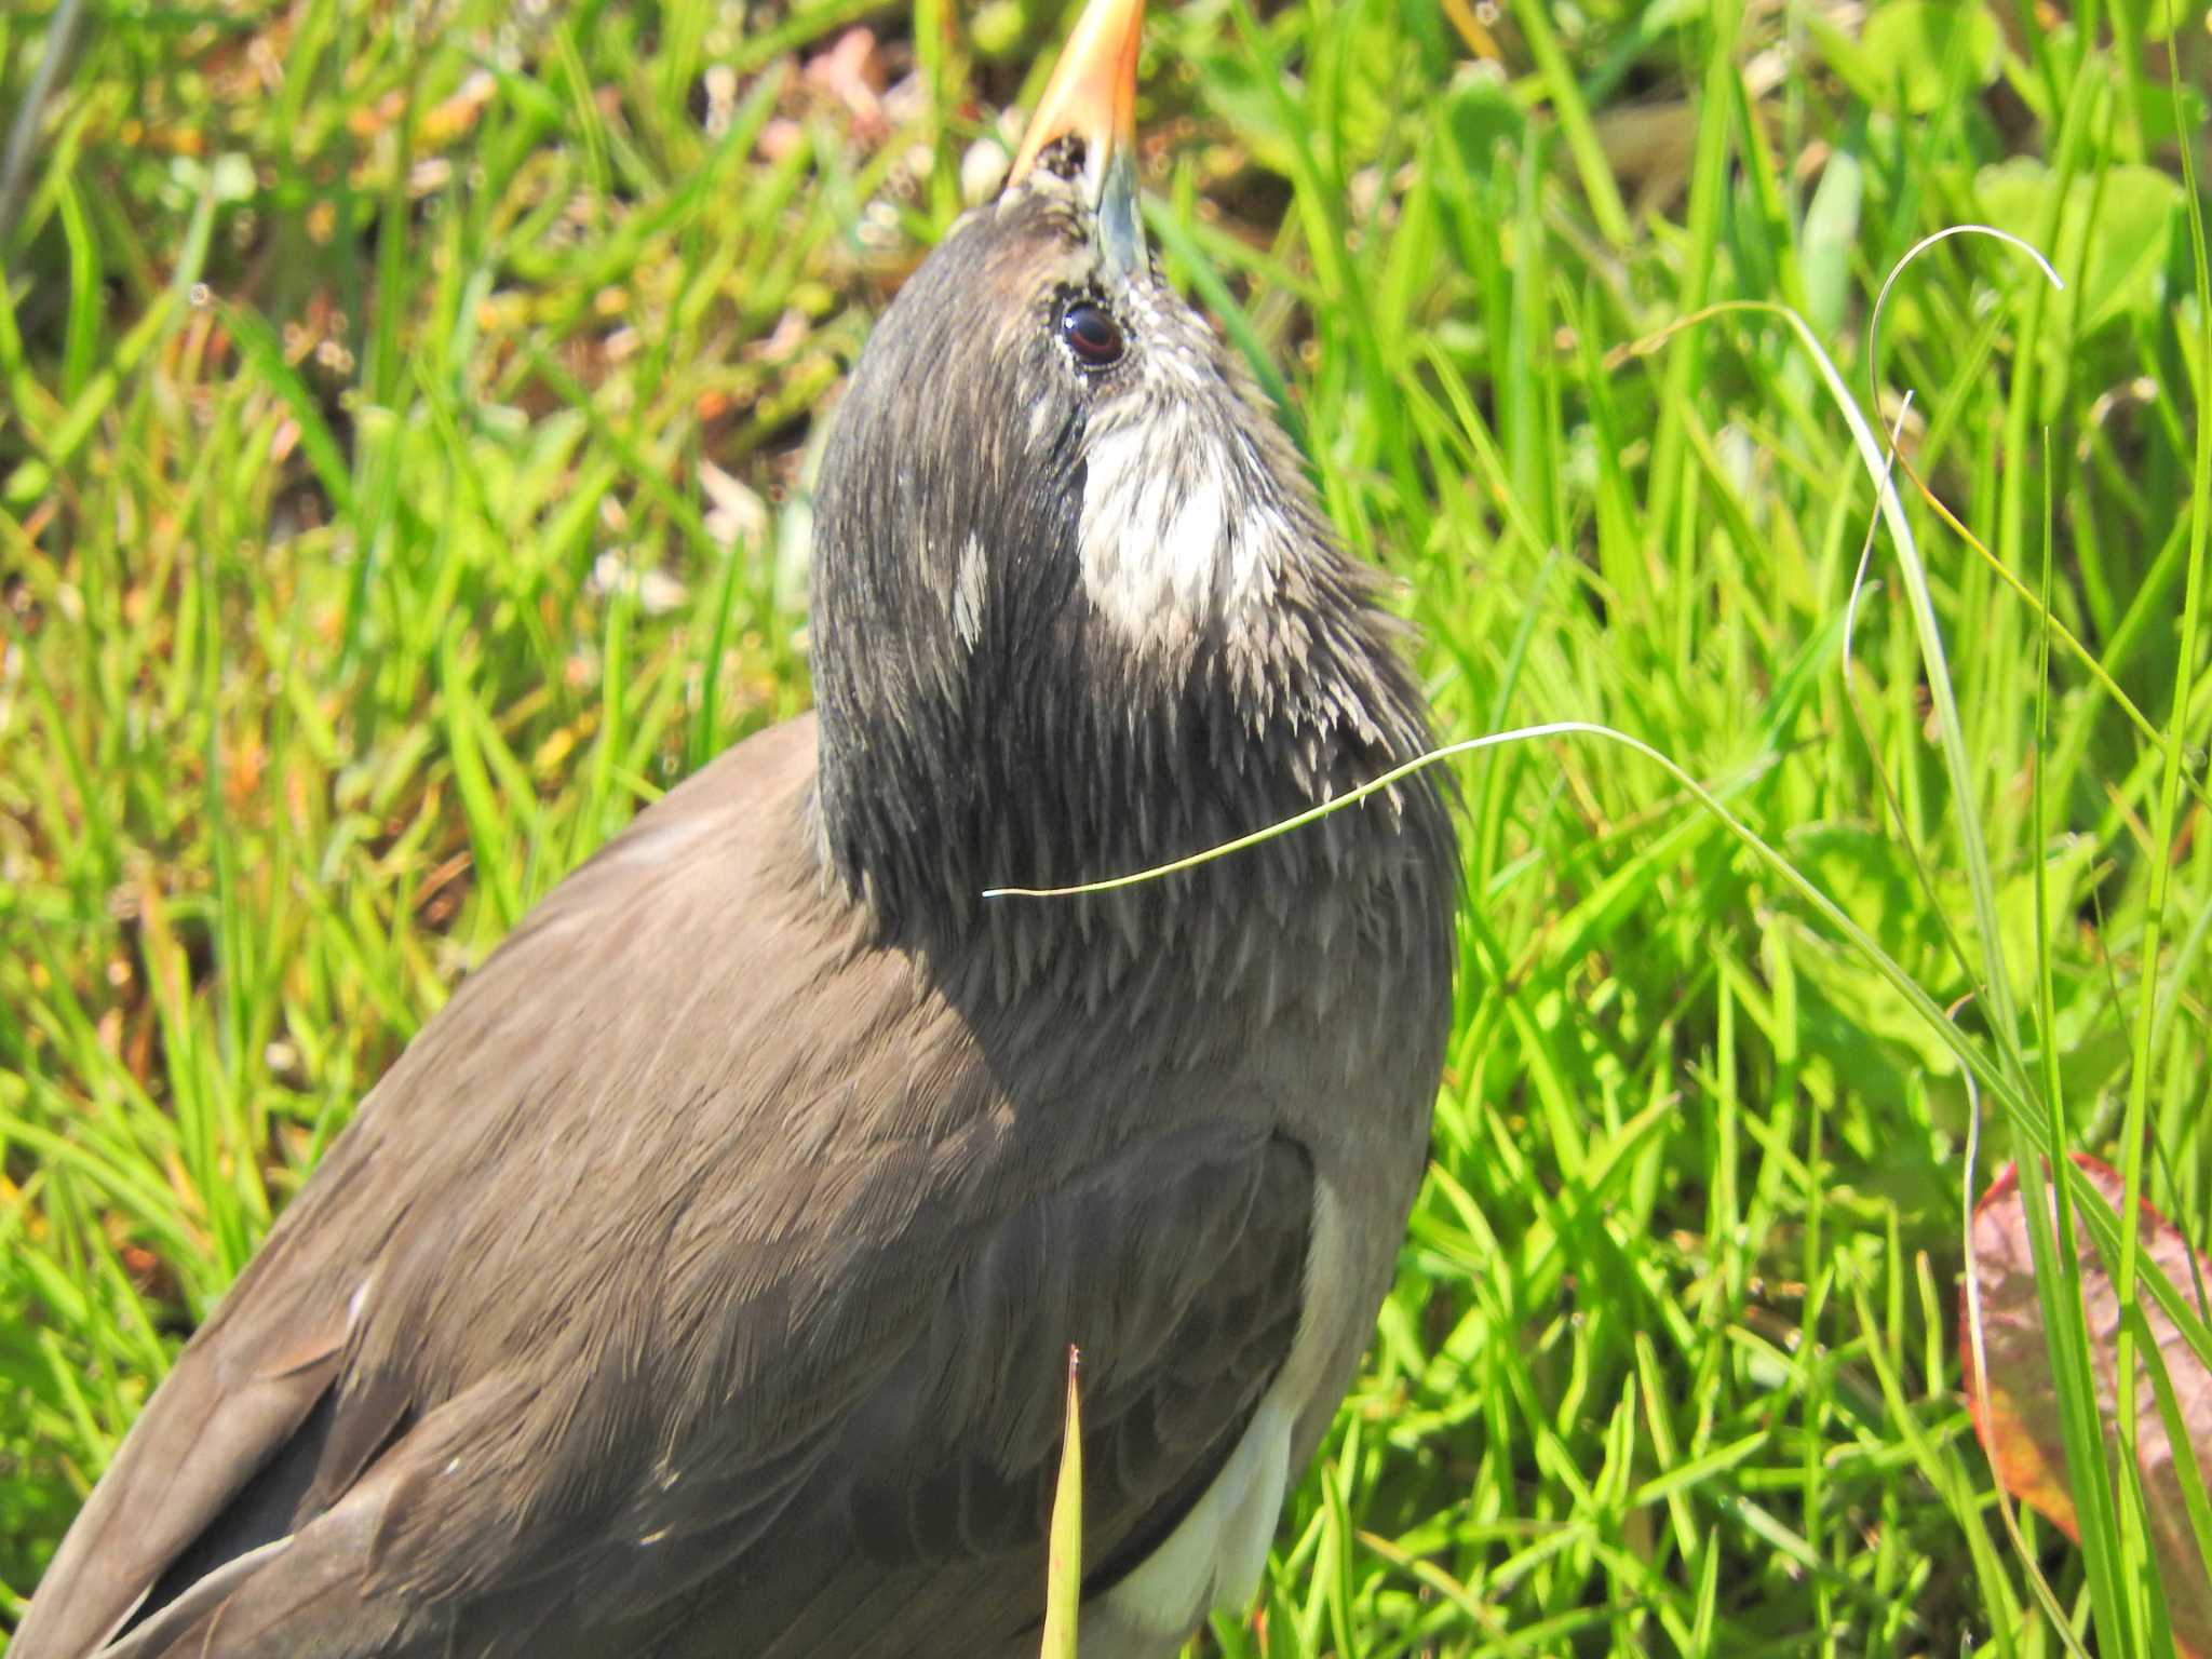
[[(821, 414), (1060, 24), (951, 11), (86, 7), (0, 237), (0, 1628), (456, 975), (805, 703)], [(0, 15), (0, 113), (53, 15)], [(1460, 763), (1433, 1177), (1223, 1652), (2062, 1652), (2031, 1568), (2159, 1650), (2124, 1517), (2000, 1526), (1958, 1274), (1969, 1179), (2055, 1137), (2212, 1230), (2212, 38), (2166, 22), (1155, 20), (1168, 270), (1281, 369), (1440, 726), (1619, 728), (1776, 854), (1608, 739)], [(1869, 361), (1958, 221), (2066, 290), (1944, 241)], [(1874, 491), (1776, 305), (1973, 538), (1907, 484), (1924, 577), (1882, 540), (1851, 613)]]

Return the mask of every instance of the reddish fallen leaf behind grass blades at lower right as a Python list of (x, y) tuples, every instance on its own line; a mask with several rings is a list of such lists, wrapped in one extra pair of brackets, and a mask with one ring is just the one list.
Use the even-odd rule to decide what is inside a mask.
[[(2117, 1210), (2126, 1199), (2119, 1172), (2086, 1152), (2073, 1157)], [(2190, 1250), (2181, 1230), (2148, 1203), (2141, 1206), (2137, 1237), (2143, 1254), (2157, 1261), (2183, 1294), (2194, 1294), (2197, 1285), (2212, 1283), (2212, 1261)], [(2112, 1276), (2104, 1270), (2104, 1259), (2079, 1225), (2075, 1243), (2081, 1261), (2081, 1301), (2088, 1312), (2090, 1367), (2097, 1376), (2097, 1409), (2106, 1427), (2106, 1451), (2117, 1455), (2112, 1425), (2119, 1416), (2119, 1363), (2115, 1354), (2119, 1294), (2112, 1287)], [(1969, 1329), (1962, 1329), (1960, 1347), (1964, 1349), (1966, 1405), (1973, 1411), (1973, 1427), (1982, 1436), (1982, 1451), (1989, 1453), (1991, 1469), (1997, 1471), (1997, 1480), (2013, 1498), (2048, 1515), (2079, 1544), (2081, 1526), (2075, 1517), (2073, 1491), (2066, 1484), (2057, 1385), (2044, 1343), (2044, 1312), (2035, 1296), (2028, 1210), (2020, 1194), (2020, 1170), (2011, 1164), (1973, 1210), (1973, 1263), (1982, 1292), (1986, 1385), (1975, 1371)], [(2137, 1298), (2159, 1354), (2166, 1358), (2166, 1374), (2172, 1378), (2197, 1467), (2212, 1478), (2212, 1371), (2190, 1349), (2181, 1329), (2159, 1312), (2148, 1292), (2139, 1290)], [(1960, 1325), (1964, 1327), (1964, 1294), (1960, 1307)], [(2181, 1502), (2174, 1444), (2166, 1436), (2166, 1420), (2159, 1416), (2159, 1400), (2150, 1389), (2150, 1371), (2141, 1365), (2135, 1385), (2135, 1420), (2137, 1462), (2143, 1469), (2143, 1491), (2150, 1495), (2150, 1542), (2166, 1586), (2166, 1615), (2172, 1621), (2174, 1641), (2190, 1659), (2212, 1659), (2212, 1579), (2205, 1577), (2203, 1555), (2197, 1551), (2197, 1537)]]

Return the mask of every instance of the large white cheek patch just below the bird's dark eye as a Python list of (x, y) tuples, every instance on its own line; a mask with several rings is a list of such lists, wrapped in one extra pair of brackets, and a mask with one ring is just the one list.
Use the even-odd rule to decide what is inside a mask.
[(1139, 641), (1177, 639), (1265, 602), (1287, 522), (1259, 504), (1254, 482), (1172, 405), (1095, 429), (1077, 531), (1091, 602)]

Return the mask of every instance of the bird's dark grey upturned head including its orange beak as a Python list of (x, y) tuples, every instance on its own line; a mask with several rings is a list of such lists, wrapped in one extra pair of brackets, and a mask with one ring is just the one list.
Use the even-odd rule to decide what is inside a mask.
[(1192, 852), (1425, 741), (1298, 453), (1146, 248), (1141, 20), (1084, 9), (823, 458), (825, 834), (894, 914)]

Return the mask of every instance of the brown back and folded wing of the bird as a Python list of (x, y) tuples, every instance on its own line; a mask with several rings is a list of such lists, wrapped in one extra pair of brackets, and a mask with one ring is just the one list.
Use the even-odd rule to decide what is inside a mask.
[(1037, 1031), (825, 898), (812, 745), (641, 814), (425, 1026), (20, 1659), (980, 1652), (1037, 1604), (1068, 1343), (1095, 1579), (1197, 1500), (1296, 1332), (1305, 1155), (1022, 1075)]

